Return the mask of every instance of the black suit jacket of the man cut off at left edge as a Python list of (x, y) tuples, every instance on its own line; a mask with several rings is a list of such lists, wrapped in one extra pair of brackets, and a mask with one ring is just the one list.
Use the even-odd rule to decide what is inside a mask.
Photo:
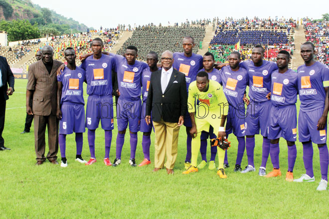
[[(7, 90), (8, 90), (8, 85), (12, 89), (14, 89), (14, 83), (15, 83), (15, 78), (11, 72), (11, 69), (8, 65), (8, 62), (6, 58), (3, 56), (0, 56), (0, 70), (1, 70), (1, 81), (2, 81), (2, 87), (0, 90), (0, 95), (3, 95), (4, 100), (8, 100), (8, 95), (7, 95)], [(1, 100), (2, 98), (0, 98)]]

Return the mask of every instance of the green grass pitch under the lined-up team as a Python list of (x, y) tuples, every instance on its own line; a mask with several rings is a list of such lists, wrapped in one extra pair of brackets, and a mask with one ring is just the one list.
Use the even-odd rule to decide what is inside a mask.
[[(174, 175), (167, 175), (165, 170), (153, 173), (153, 163), (146, 167), (130, 167), (128, 132), (122, 164), (116, 168), (106, 167), (103, 163), (104, 131), (101, 128), (96, 131), (97, 163), (94, 165), (85, 166), (74, 161), (76, 148), (72, 134), (67, 136), (67, 168), (49, 162), (35, 166), (33, 125), (30, 133), (19, 134), (25, 122), (26, 83), (27, 80), (15, 80), (15, 92), (6, 105), (3, 137), (5, 146), (11, 150), (0, 151), (0, 218), (329, 218), (329, 191), (316, 191), (321, 180), (319, 150), (314, 145), (316, 182), (288, 183), (285, 181), (288, 164), (284, 139), (280, 139), (283, 176), (274, 179), (257, 175), (262, 152), (260, 135), (256, 136), (256, 172), (233, 172), (237, 140), (230, 135), (232, 143), (228, 159), (231, 167), (225, 170), (227, 179), (220, 179), (215, 170), (210, 171), (207, 167), (195, 174), (182, 175), (186, 152), (184, 127), (180, 128)], [(115, 128), (110, 152), (112, 162), (115, 158), (116, 136)], [(136, 162), (140, 163), (144, 156), (142, 134), (138, 136)], [(154, 137), (152, 133), (152, 161)], [(298, 178), (305, 170), (302, 144), (296, 142), (296, 145), (294, 176)], [(86, 160), (90, 157), (87, 133), (84, 134), (82, 157)], [(217, 162), (216, 157), (216, 166)], [(245, 152), (242, 167), (246, 165)], [(271, 169), (269, 158), (267, 172)]]

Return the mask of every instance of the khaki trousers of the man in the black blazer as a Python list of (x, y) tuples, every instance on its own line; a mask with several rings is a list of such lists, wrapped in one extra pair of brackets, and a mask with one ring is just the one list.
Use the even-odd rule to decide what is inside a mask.
[(177, 157), (179, 126), (176, 122), (153, 121), (156, 133), (154, 163), (156, 168), (173, 169)]

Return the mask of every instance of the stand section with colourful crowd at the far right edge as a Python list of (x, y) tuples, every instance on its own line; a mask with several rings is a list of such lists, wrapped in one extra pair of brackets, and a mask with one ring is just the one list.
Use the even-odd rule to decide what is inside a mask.
[(306, 41), (315, 45), (318, 61), (329, 64), (329, 21), (307, 21), (304, 25)]

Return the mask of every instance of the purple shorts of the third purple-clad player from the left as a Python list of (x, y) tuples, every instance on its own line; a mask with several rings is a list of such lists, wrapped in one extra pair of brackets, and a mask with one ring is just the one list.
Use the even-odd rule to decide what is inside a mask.
[(118, 131), (125, 130), (128, 122), (131, 132), (138, 132), (140, 130), (141, 105), (142, 100), (126, 100), (119, 97), (117, 105)]

